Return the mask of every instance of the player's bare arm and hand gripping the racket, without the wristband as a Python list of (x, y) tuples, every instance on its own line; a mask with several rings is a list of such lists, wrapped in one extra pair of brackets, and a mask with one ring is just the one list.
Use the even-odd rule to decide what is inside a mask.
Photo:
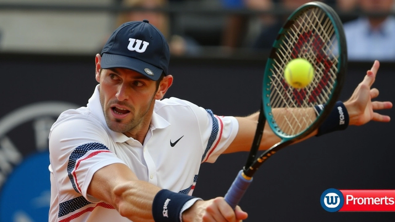
[[(139, 181), (124, 164), (111, 164), (99, 169), (88, 186), (88, 194), (110, 203), (120, 215), (134, 222), (154, 221), (152, 203), (160, 190), (162, 189), (149, 182)], [(240, 207), (234, 211), (222, 197), (198, 200), (182, 213), (184, 222), (236, 222), (247, 216)]]

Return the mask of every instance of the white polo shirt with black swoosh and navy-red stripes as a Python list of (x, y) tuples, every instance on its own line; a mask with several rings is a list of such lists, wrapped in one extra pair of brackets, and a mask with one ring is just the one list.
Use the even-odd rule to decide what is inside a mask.
[(87, 107), (63, 112), (49, 134), (50, 222), (130, 222), (87, 195), (93, 174), (122, 163), (142, 181), (191, 195), (202, 162), (214, 162), (237, 134), (234, 117), (178, 98), (157, 100), (144, 144), (110, 130), (98, 86)]

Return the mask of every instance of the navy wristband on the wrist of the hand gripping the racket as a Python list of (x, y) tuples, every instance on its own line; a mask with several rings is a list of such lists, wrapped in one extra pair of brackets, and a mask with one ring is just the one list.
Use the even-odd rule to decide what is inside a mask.
[(186, 194), (160, 190), (152, 203), (152, 216), (155, 222), (180, 222), (180, 213), (184, 204), (196, 197)]

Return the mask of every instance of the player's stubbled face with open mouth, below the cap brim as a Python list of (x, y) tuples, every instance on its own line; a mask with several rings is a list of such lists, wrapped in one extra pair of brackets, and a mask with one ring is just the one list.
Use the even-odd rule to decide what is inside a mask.
[(155, 93), (156, 82), (136, 71), (114, 68), (100, 73), (100, 103), (107, 126), (115, 132), (149, 124)]

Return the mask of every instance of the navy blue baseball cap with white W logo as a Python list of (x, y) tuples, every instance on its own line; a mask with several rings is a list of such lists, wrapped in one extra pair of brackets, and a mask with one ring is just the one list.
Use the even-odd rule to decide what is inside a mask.
[(101, 67), (127, 68), (150, 79), (168, 74), (170, 52), (163, 34), (148, 20), (120, 25), (105, 43)]

